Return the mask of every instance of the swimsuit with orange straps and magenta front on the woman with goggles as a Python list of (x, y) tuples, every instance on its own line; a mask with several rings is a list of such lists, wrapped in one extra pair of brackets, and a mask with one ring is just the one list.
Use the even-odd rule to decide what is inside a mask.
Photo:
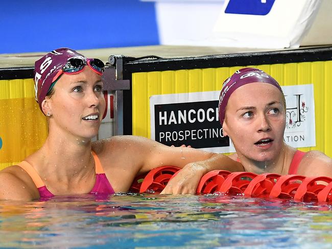
[[(102, 164), (99, 161), (99, 158), (96, 153), (92, 152), (94, 164), (96, 165), (96, 183), (94, 183), (93, 188), (89, 192), (90, 194), (113, 194), (114, 190), (109, 183), (105, 171), (102, 167)], [(53, 197), (54, 194), (48, 190), (41, 180), (40, 176), (38, 175), (37, 171), (31, 166), (30, 163), (26, 161), (22, 161), (17, 164), (25, 171), (27, 171), (28, 175), (31, 177), (33, 182), (35, 183), (36, 187), (38, 188), (40, 198), (50, 198)]]

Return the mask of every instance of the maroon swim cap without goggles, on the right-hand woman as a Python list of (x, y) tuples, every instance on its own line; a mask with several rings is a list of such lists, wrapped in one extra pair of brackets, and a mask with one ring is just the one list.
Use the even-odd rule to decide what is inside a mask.
[(271, 84), (278, 88), (283, 96), (283, 92), (279, 83), (271, 76), (269, 76), (269, 74), (263, 70), (253, 67), (241, 68), (234, 72), (234, 74), (223, 83), (223, 88), (221, 89), (219, 96), (219, 121), (221, 126), (223, 126), (224, 123), (226, 106), (230, 95), (232, 95), (232, 93), (239, 87), (254, 82), (264, 82)]

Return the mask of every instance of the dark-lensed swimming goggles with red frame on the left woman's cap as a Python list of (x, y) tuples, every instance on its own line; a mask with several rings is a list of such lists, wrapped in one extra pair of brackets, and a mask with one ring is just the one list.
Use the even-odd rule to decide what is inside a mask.
[(94, 72), (102, 75), (105, 69), (105, 64), (99, 59), (81, 59), (70, 58), (62, 67), (62, 72), (65, 74), (76, 74), (83, 70), (84, 66), (88, 65)]

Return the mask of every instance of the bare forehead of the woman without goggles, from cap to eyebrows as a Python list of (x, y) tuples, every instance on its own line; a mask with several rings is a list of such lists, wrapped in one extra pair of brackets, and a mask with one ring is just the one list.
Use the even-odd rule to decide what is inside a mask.
[(236, 89), (228, 100), (227, 106), (238, 108), (242, 106), (266, 106), (277, 101), (282, 103), (282, 93), (271, 84), (255, 82)]

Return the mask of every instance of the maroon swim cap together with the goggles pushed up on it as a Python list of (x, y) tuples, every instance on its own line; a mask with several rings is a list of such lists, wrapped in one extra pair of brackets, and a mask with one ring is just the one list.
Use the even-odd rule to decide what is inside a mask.
[(80, 73), (85, 65), (88, 65), (99, 75), (104, 72), (105, 65), (101, 60), (88, 59), (75, 50), (66, 47), (58, 48), (35, 62), (35, 98), (41, 111), (43, 100), (61, 74)]

